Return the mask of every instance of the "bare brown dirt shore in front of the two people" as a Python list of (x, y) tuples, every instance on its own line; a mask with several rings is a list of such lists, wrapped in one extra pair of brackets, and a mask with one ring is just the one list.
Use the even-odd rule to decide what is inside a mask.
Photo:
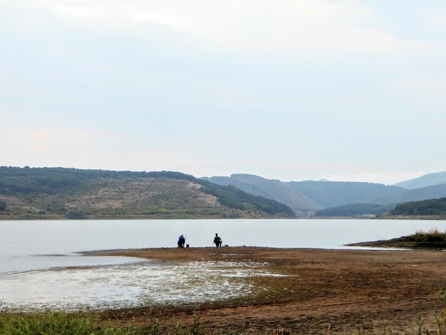
[[(248, 334), (272, 334), (281, 328), (293, 334), (416, 334), (422, 315), (423, 329), (435, 333), (437, 297), (446, 285), (446, 251), (228, 247), (101, 254), (175, 262), (266, 262), (268, 270), (285, 275), (253, 279), (267, 290), (250, 299), (154, 310), (164, 327), (176, 320), (189, 325), (195, 310), (208, 329)], [(143, 324), (147, 312), (109, 311), (107, 317)]]

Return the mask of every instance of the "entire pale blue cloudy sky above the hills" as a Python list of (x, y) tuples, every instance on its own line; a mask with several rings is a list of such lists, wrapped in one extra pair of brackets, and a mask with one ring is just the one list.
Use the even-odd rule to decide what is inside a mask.
[(0, 0), (0, 165), (446, 171), (444, 0)]

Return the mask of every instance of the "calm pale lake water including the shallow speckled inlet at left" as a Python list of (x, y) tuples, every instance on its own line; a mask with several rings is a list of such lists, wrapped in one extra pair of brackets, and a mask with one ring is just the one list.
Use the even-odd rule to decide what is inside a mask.
[[(351, 249), (344, 244), (446, 230), (427, 220), (0, 221), (0, 301), (19, 308), (124, 307), (250, 294), (261, 264), (155, 262), (82, 251), (213, 246)], [(231, 270), (228, 271), (228, 268)]]

